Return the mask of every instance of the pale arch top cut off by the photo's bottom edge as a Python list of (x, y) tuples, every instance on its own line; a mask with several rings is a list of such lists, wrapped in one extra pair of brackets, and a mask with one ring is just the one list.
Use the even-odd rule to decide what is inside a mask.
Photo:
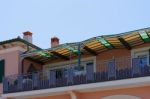
[(142, 99), (142, 98), (130, 95), (113, 95), (104, 97), (102, 99)]

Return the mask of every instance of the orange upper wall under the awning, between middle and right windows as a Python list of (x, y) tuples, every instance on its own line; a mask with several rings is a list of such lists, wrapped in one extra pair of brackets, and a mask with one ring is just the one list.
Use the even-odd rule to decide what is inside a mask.
[[(132, 50), (139, 49), (139, 48), (146, 48), (149, 46), (150, 46), (150, 43), (145, 43), (145, 44), (141, 44), (139, 46), (133, 47)], [(98, 54), (98, 56), (96, 57), (97, 71), (105, 71), (107, 64), (105, 64), (104, 61), (112, 60), (113, 58), (121, 59), (121, 61), (117, 63), (117, 64), (119, 64), (119, 67), (117, 67), (118, 69), (122, 69), (124, 67), (129, 67), (131, 65), (130, 57), (131, 57), (132, 50), (127, 50), (126, 48), (112, 49), (112, 50), (108, 50), (108, 51)]]

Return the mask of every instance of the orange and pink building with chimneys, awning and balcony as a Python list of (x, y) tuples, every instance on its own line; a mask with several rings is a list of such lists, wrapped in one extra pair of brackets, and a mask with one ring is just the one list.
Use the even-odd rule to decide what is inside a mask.
[(150, 28), (51, 48), (0, 42), (2, 99), (149, 99)]

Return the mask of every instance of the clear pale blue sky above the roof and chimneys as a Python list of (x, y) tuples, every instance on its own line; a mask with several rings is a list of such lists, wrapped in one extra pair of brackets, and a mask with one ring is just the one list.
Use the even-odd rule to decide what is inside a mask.
[(60, 43), (150, 27), (150, 0), (0, 0), (0, 41), (33, 33), (33, 43)]

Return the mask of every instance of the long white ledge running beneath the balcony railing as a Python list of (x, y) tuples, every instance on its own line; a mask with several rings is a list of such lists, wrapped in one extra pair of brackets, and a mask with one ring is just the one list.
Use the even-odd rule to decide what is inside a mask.
[(143, 86), (150, 86), (150, 77), (131, 78), (131, 79), (124, 79), (124, 80), (116, 80), (116, 81), (65, 86), (65, 87), (58, 87), (58, 88), (51, 88), (51, 89), (9, 93), (9, 94), (2, 94), (2, 97), (4, 98), (9, 98), (9, 97), (24, 98), (24, 97), (37, 97), (37, 96), (42, 97), (42, 96), (68, 94), (69, 91), (77, 91), (77, 92), (84, 93), (84, 92), (104, 91), (104, 90), (122, 89), (122, 88), (134, 88), (134, 87), (143, 87)]

